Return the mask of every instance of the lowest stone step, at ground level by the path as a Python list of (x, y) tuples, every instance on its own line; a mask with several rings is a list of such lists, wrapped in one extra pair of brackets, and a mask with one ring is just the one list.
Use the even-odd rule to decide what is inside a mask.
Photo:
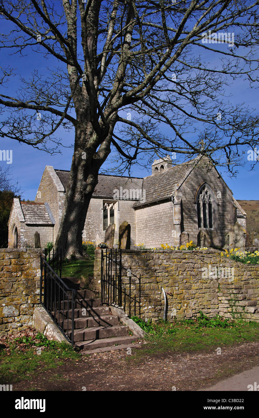
[(102, 347), (112, 347), (112, 346), (115, 346), (115, 344), (116, 344), (116, 346), (114, 347), (115, 350), (117, 348), (126, 348), (127, 344), (128, 344), (128, 347), (132, 347), (131, 343), (133, 341), (136, 341), (137, 339), (138, 337), (136, 336), (125, 335), (125, 336), (117, 336), (117, 337), (103, 338), (103, 339), (97, 339), (97, 340), (92, 339), (88, 341), (78, 342), (75, 345), (87, 354), (88, 350), (89, 351), (94, 350), (93, 352), (98, 352), (97, 349), (100, 348), (100, 352), (101, 352), (101, 351), (105, 351), (105, 350), (101, 350)]

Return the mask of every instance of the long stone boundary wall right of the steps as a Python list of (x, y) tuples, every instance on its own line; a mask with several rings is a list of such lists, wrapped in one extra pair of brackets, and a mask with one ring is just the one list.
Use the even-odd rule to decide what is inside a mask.
[[(259, 321), (259, 265), (228, 260), (214, 249), (123, 250), (122, 267), (123, 308), (129, 315), (163, 318), (163, 287), (169, 293), (168, 320), (194, 318), (201, 310)], [(101, 250), (95, 252), (91, 288), (101, 292)]]

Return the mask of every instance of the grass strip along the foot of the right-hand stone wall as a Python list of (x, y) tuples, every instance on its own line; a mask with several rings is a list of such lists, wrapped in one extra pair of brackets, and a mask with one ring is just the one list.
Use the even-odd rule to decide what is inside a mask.
[[(217, 321), (217, 319), (213, 319)], [(222, 321), (224, 324), (225, 321)], [(148, 354), (158, 352), (200, 351), (222, 345), (234, 345), (239, 342), (259, 340), (259, 323), (252, 321), (228, 321), (227, 326), (212, 326), (213, 323), (201, 318), (201, 321), (184, 320), (175, 323), (158, 321), (153, 325), (155, 333), (149, 332), (146, 344), (142, 345), (128, 359), (141, 359)]]

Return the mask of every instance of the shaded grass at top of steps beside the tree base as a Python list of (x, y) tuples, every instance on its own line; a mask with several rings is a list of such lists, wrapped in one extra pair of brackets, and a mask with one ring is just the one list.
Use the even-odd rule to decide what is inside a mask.
[(80, 260), (64, 260), (62, 263), (62, 277), (85, 278), (93, 276), (94, 250), (88, 249), (87, 254), (90, 258)]

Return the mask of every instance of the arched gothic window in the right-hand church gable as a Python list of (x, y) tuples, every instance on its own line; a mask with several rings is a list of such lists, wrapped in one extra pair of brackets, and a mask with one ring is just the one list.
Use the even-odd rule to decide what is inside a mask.
[(213, 198), (206, 185), (197, 196), (198, 228), (213, 228)]

